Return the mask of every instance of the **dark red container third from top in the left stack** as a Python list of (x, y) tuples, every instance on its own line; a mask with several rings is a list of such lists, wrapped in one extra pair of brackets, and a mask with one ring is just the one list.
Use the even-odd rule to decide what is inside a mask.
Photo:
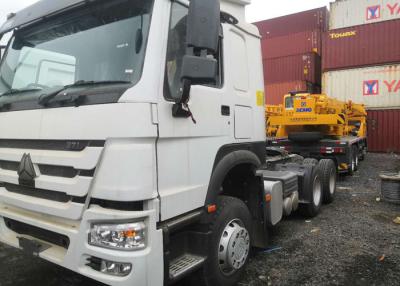
[(315, 53), (263, 60), (264, 82), (308, 81), (321, 84), (321, 57)]

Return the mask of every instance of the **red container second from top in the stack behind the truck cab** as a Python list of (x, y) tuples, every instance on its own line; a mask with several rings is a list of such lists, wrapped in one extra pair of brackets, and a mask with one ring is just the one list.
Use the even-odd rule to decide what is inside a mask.
[(305, 31), (287, 36), (267, 38), (261, 41), (263, 59), (273, 59), (305, 53), (321, 54), (322, 33)]

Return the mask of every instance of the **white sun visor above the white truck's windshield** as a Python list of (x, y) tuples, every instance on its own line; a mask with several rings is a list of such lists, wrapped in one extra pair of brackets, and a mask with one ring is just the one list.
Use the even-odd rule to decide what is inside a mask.
[(0, 34), (9, 32), (15, 28), (23, 27), (30, 23), (39, 21), (45, 16), (51, 16), (59, 12), (84, 5), (87, 2), (98, 0), (41, 0), (37, 3), (19, 11), (15, 15), (10, 15), (7, 22), (0, 28)]

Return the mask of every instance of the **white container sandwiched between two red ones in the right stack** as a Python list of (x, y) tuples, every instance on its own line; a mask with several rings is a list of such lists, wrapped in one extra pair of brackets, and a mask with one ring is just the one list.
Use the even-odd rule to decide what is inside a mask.
[(332, 97), (367, 108), (400, 108), (400, 64), (325, 72), (322, 86)]

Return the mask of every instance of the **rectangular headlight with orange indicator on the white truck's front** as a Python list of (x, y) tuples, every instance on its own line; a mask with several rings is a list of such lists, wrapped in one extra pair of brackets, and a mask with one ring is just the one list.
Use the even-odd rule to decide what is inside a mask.
[(139, 250), (146, 247), (144, 222), (124, 224), (92, 224), (89, 244), (118, 250)]

